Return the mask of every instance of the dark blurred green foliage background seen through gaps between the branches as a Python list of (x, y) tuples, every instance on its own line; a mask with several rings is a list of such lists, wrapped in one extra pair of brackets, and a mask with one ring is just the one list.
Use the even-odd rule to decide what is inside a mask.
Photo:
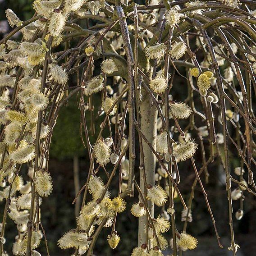
[[(33, 0), (0, 0), (0, 37), (3, 37), (9, 30), (10, 27), (6, 22), (5, 9), (11, 8), (20, 17), (21, 20), (26, 20), (31, 18), (34, 14), (32, 9)], [(84, 22), (85, 23), (85, 22)], [(82, 26), (86, 27), (86, 24), (82, 23)], [(99, 69), (100, 62), (95, 61), (95, 71), (94, 74), (97, 75), (100, 72)], [(225, 67), (222, 67), (225, 68)], [(179, 69), (181, 74), (185, 75), (185, 68)], [(179, 86), (173, 87), (173, 98), (183, 101), (187, 97), (187, 84), (184, 84), (184, 80), (180, 79), (179, 76), (175, 77), (175, 84)], [(69, 79), (69, 86), (76, 86), (76, 78), (72, 77)], [(117, 88), (113, 87), (114, 91)], [(73, 158), (74, 156), (79, 157), (79, 178), (80, 187), (85, 183), (87, 178), (87, 171), (89, 168), (89, 159), (87, 155), (87, 149), (84, 148), (81, 140), (80, 133), (80, 110), (78, 109), (78, 99), (79, 96), (73, 96), (73, 98), (64, 106), (64, 108), (59, 113), (59, 118), (54, 128), (54, 135), (52, 137), (52, 144), (50, 148), (50, 163), (49, 171), (53, 178), (54, 188), (53, 193), (50, 197), (44, 198), (41, 205), (42, 213), (42, 224), (46, 231), (46, 236), (48, 240), (48, 246), (50, 249), (51, 256), (68, 256), (73, 253), (73, 250), (60, 250), (57, 246), (58, 239), (66, 232), (68, 229), (75, 228), (75, 215), (74, 215), (74, 205), (72, 201), (75, 197), (74, 192), (74, 178), (73, 178)], [(254, 101), (255, 102), (255, 101)], [(96, 105), (95, 115), (97, 114), (97, 106), (99, 107), (101, 103), (101, 98), (98, 96), (94, 97), (94, 104)], [(200, 110), (200, 100), (195, 102), (197, 109)], [(90, 114), (86, 114), (87, 122), (90, 124)], [(98, 117), (95, 120), (95, 127), (99, 129), (101, 122), (104, 119), (104, 115)], [(186, 121), (181, 122), (183, 127), (186, 126)], [(219, 130), (221, 132), (222, 128), (219, 125)], [(114, 131), (113, 131), (114, 132)], [(97, 134), (97, 130), (96, 130)], [(235, 134), (231, 134), (235, 136)], [(108, 134), (105, 134), (105, 137)], [(192, 134), (192, 137), (197, 137), (196, 134)], [(177, 138), (175, 138), (177, 139)], [(96, 137), (90, 136), (92, 145), (94, 144)], [(223, 151), (223, 148), (221, 148)], [(235, 152), (235, 151), (234, 151)], [(208, 154), (208, 149), (206, 148), (206, 154)], [(137, 156), (139, 152), (137, 152)], [(239, 166), (240, 160), (238, 155), (233, 155), (232, 151), (229, 151), (229, 157), (231, 162), (231, 168)], [(136, 162), (136, 172), (138, 171), (138, 157)], [(197, 159), (196, 159), (197, 162)], [(201, 159), (198, 159), (201, 162)], [(198, 166), (200, 168), (200, 165)], [(107, 171), (110, 171), (110, 166), (106, 166)], [(26, 171), (26, 170), (22, 170)], [(225, 174), (220, 165), (219, 160), (215, 161), (208, 168), (210, 174), (210, 183), (205, 185), (206, 191), (208, 193), (208, 198), (210, 205), (212, 207), (213, 214), (215, 215), (216, 225), (219, 230), (220, 236), (225, 236), (229, 233), (228, 225), (228, 204), (227, 196), (225, 191)], [(187, 201), (190, 195), (191, 186), (194, 181), (195, 175), (190, 165), (189, 161), (180, 164), (180, 175), (181, 183), (179, 185), (180, 191), (183, 194), (184, 199)], [(104, 176), (104, 174), (102, 175)], [(113, 195), (117, 193), (118, 177), (115, 177), (112, 186), (110, 187)], [(246, 192), (246, 201), (244, 204), (245, 215), (239, 222), (234, 221), (234, 229), (236, 233), (237, 243), (240, 245), (244, 255), (256, 255), (253, 252), (253, 247), (255, 247), (256, 239), (256, 201), (255, 199)], [(137, 222), (138, 220), (134, 218), (129, 209), (132, 204), (137, 201), (137, 194), (135, 197), (128, 200), (127, 210), (121, 213), (117, 220), (116, 230), (121, 236), (121, 241), (119, 246), (114, 251), (110, 249), (106, 241), (107, 236), (110, 234), (110, 228), (104, 229), (98, 239), (96, 244), (95, 254), (99, 256), (128, 256), (132, 251), (133, 247), (137, 245)], [(182, 204), (179, 199), (175, 201), (175, 212), (176, 212), (176, 223), (178, 230), (183, 229), (183, 222), (180, 221), (180, 214), (182, 211)], [(239, 209), (239, 201), (233, 203), (234, 212)], [(0, 211), (2, 212), (4, 208), (3, 203), (0, 204)], [(161, 209), (156, 216), (160, 214)], [(206, 244), (213, 243), (213, 248), (211, 249), (212, 255), (227, 255), (227, 249), (224, 252), (219, 252), (217, 248), (217, 241), (214, 238), (214, 230), (210, 220), (209, 212), (207, 210), (204, 197), (202, 195), (201, 189), (197, 186), (195, 191), (195, 197), (192, 205), (193, 222), (188, 224), (187, 232), (199, 238), (199, 248), (203, 245), (200, 244), (200, 239), (206, 241)], [(7, 241), (11, 241), (16, 235), (16, 228), (13, 226), (13, 222), (8, 221), (6, 229)], [(167, 238), (170, 238), (170, 233), (167, 234)], [(208, 240), (204, 240), (208, 239)], [(225, 241), (223, 239), (222, 241)], [(229, 239), (227, 239), (229, 241)], [(14, 241), (13, 241), (14, 242)], [(203, 244), (203, 242), (202, 242)], [(229, 246), (229, 244), (226, 244)], [(7, 242), (6, 247), (8, 251), (11, 250), (12, 244)], [(42, 240), (41, 248), (39, 248), (42, 255), (46, 255), (45, 244)], [(218, 252), (217, 252), (218, 251)], [(193, 252), (196, 253), (196, 252)], [(222, 254), (223, 253), (223, 254)], [(186, 253), (184, 255), (187, 255)], [(192, 255), (192, 254), (190, 254)], [(210, 254), (209, 254), (210, 255)]]

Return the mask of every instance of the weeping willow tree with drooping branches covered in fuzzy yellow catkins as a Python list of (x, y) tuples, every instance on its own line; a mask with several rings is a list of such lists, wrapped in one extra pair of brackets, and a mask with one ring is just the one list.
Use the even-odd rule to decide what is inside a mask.
[[(35, 15), (27, 21), (6, 10), (14, 29), (0, 41), (0, 197), (5, 201), (0, 254), (8, 255), (4, 244), (13, 242), (5, 239), (10, 218), (18, 229), (14, 255), (40, 255), (35, 249), (41, 239), (50, 255), (49, 231), (40, 214), (42, 198), (54, 185), (48, 172), (50, 142), (59, 110), (77, 96), (90, 166), (77, 194), (82, 195), (77, 226), (59, 239), (59, 247), (91, 256), (101, 230), (110, 228), (108, 243), (114, 249), (120, 241), (119, 213), (129, 197), (139, 195), (132, 209), (126, 209), (138, 217), (138, 246), (132, 255), (160, 256), (168, 246), (174, 256), (182, 255), (197, 247), (197, 239), (186, 233), (197, 183), (223, 247), (201, 181), (204, 175), (208, 182), (208, 168), (220, 159), (229, 250), (236, 255), (233, 216), (241, 219), (244, 198), (256, 196), (254, 2), (35, 0), (33, 7)], [(13, 41), (18, 32), (21, 40)], [(96, 60), (101, 61), (99, 75)], [(187, 98), (174, 98), (174, 90), (187, 91)], [(96, 129), (101, 115), (104, 120)], [(97, 138), (94, 146), (90, 134)], [(241, 160), (235, 169), (230, 150)], [(188, 201), (179, 190), (183, 161), (195, 173)], [(24, 164), (27, 174), (22, 177)], [(119, 184), (112, 182), (114, 176)], [(110, 193), (111, 187), (118, 188), (117, 194)], [(176, 229), (174, 197), (184, 208), (183, 230)], [(233, 200), (240, 200), (240, 209), (233, 209)], [(166, 214), (155, 215), (159, 209)], [(169, 244), (166, 232), (172, 235)]]

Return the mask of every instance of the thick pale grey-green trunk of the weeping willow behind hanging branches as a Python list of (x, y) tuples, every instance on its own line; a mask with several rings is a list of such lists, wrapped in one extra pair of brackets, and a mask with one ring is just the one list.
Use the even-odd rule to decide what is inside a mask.
[[(151, 107), (150, 95), (142, 90), (142, 103), (140, 104), (141, 111), (141, 130), (145, 135), (146, 139), (155, 148), (155, 136), (156, 136), (156, 123), (157, 123), (157, 109), (153, 105)], [(146, 182), (152, 186), (155, 185), (155, 155), (151, 151), (150, 147), (142, 139), (143, 152), (145, 155), (145, 171), (146, 171)], [(140, 188), (144, 196), (144, 183), (143, 174), (140, 170)], [(150, 210), (151, 216), (154, 216), (154, 204), (148, 202), (148, 209)], [(139, 218), (139, 230), (138, 230), (138, 246), (146, 242), (146, 216)]]

